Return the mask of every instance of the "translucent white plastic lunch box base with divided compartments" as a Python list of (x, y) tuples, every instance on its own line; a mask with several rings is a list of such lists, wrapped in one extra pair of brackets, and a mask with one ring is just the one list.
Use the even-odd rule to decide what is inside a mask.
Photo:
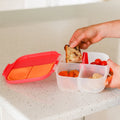
[[(109, 56), (99, 52), (88, 52), (89, 63), (95, 59), (108, 60)], [(93, 65), (93, 64), (79, 64), (79, 63), (65, 63), (64, 56), (60, 60), (56, 68), (56, 77), (58, 87), (62, 91), (81, 91), (90, 93), (99, 93), (105, 88), (105, 81), (109, 73), (109, 66)], [(60, 76), (60, 71), (78, 70), (78, 77)], [(103, 77), (99, 79), (91, 79), (94, 73), (99, 73)]]

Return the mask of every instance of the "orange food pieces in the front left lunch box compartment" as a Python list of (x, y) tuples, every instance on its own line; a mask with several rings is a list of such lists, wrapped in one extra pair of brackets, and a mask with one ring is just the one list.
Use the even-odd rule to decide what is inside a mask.
[(78, 77), (79, 71), (78, 70), (61, 71), (59, 72), (59, 75), (66, 77)]

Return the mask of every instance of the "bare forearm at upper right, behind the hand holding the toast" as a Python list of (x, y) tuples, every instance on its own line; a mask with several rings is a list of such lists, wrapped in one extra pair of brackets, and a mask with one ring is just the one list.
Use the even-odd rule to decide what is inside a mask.
[(120, 38), (120, 20), (101, 23), (96, 27), (102, 38)]

